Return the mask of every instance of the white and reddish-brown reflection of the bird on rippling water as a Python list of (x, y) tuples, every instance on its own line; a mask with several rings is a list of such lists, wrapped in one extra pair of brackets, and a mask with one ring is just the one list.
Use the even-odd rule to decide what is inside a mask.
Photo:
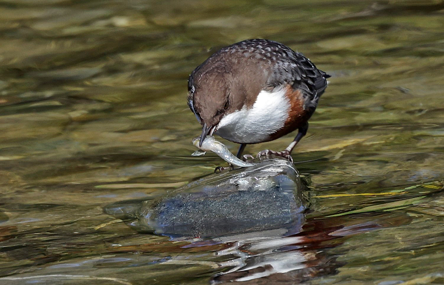
[[(230, 270), (215, 275), (212, 283), (252, 281), (254, 284), (289, 284), (336, 273), (344, 264), (325, 249), (341, 245), (351, 235), (410, 222), (403, 214), (394, 214), (392, 217), (376, 215), (371, 220), (359, 215), (349, 218), (360, 220), (360, 223), (347, 224), (341, 219), (309, 220), (304, 225), (307, 230), (301, 234), (237, 241), (229, 249), (215, 253), (216, 256), (234, 258), (220, 264), (230, 267)], [(255, 280), (258, 278), (261, 280)]]

